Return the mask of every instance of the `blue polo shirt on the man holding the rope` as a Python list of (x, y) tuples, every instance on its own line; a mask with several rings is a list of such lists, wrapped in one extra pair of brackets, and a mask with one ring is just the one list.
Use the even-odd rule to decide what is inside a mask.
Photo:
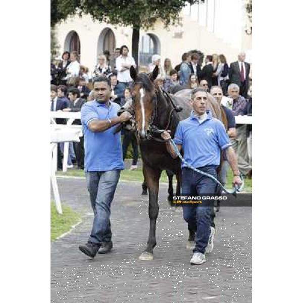
[[(229, 137), (224, 125), (207, 111), (207, 119), (201, 124), (193, 111), (179, 122), (174, 142), (182, 145), (184, 160), (194, 168), (220, 164), (220, 148), (229, 146)], [(186, 167), (182, 163), (181, 167)]]

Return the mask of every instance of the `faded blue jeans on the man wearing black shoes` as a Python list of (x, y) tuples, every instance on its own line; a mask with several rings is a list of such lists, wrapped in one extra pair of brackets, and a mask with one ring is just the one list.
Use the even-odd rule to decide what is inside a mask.
[(86, 184), (94, 219), (89, 242), (100, 245), (112, 240), (111, 204), (120, 177), (120, 170), (86, 172)]

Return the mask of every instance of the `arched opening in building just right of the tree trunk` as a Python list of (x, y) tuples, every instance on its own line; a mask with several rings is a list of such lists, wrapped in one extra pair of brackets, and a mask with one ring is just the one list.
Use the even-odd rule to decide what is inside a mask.
[(147, 67), (155, 54), (161, 55), (159, 38), (154, 34), (142, 36), (139, 43), (139, 65)]

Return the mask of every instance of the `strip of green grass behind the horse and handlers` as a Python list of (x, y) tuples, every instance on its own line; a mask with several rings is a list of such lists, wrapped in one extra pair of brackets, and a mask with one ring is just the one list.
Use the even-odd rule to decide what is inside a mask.
[[(57, 176), (84, 177), (85, 175), (84, 175), (83, 170), (69, 169), (66, 173), (63, 173), (62, 171), (57, 172)], [(233, 174), (232, 174), (231, 169), (229, 169), (228, 173), (227, 173), (227, 183), (226, 183), (227, 188), (229, 188), (229, 189), (232, 187), (232, 185), (231, 185), (232, 184), (232, 178), (233, 178)], [(143, 181), (142, 170), (137, 169), (137, 170), (130, 171), (128, 169), (125, 169), (121, 172), (120, 180), (121, 181), (139, 181), (139, 182), (142, 182)], [(175, 180), (176, 179), (174, 177), (174, 181)], [(168, 182), (165, 171), (162, 172), (160, 182)], [(251, 180), (249, 180), (249, 179), (244, 180), (244, 189), (243, 189), (243, 191), (252, 192)]]

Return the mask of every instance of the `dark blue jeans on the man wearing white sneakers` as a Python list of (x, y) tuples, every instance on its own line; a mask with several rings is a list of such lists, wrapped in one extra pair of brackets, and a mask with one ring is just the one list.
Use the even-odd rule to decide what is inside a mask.
[[(217, 166), (205, 166), (198, 169), (217, 177)], [(189, 168), (182, 169), (181, 193), (199, 195), (215, 193), (217, 184), (211, 178), (196, 173)], [(205, 253), (211, 233), (212, 206), (183, 206), (183, 218), (188, 223), (188, 229), (195, 230), (195, 248), (193, 252)]]

